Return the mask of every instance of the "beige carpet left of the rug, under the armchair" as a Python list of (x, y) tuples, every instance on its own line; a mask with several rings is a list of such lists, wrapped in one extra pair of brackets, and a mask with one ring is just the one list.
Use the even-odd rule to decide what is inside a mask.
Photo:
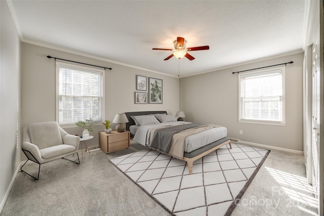
[[(38, 181), (19, 171), (1, 216), (169, 215), (108, 161), (134, 151), (105, 154), (99, 149), (83, 152), (84, 159), (79, 155), (80, 164), (64, 159), (45, 163)], [(37, 174), (37, 164), (24, 167)]]

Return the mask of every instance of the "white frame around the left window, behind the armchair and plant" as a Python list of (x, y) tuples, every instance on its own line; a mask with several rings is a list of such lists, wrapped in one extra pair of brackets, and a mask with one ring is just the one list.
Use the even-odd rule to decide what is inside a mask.
[(98, 68), (92, 68), (92, 67), (85, 67), (85, 66), (80, 66), (80, 65), (74, 65), (74, 64), (68, 64), (64, 62), (56, 62), (56, 73), (55, 73), (55, 89), (56, 89), (56, 97), (55, 97), (55, 107), (56, 107), (56, 112), (55, 112), (55, 118), (56, 121), (59, 123), (59, 125), (62, 128), (71, 128), (71, 127), (77, 127), (75, 123), (60, 123), (59, 122), (59, 69), (60, 68), (67, 68), (67, 69), (72, 69), (72, 70), (80, 70), (80, 71), (85, 71), (85, 72), (91, 72), (91, 73), (101, 73), (101, 78), (102, 78), (102, 104), (101, 104), (101, 120), (98, 121), (93, 121), (93, 122), (103, 122), (105, 119), (105, 70), (104, 69), (98, 69)]

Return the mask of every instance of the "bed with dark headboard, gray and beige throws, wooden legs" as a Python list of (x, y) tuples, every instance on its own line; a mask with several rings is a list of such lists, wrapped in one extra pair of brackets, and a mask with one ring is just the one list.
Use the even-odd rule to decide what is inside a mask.
[[(226, 127), (177, 121), (166, 111), (126, 112), (131, 139), (184, 160), (192, 174), (193, 161), (231, 142)], [(172, 131), (172, 132), (171, 132)]]

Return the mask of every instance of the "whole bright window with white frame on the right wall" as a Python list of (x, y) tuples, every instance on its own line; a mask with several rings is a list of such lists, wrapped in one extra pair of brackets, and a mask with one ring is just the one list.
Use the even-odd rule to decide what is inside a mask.
[(239, 122), (285, 124), (285, 67), (238, 74)]

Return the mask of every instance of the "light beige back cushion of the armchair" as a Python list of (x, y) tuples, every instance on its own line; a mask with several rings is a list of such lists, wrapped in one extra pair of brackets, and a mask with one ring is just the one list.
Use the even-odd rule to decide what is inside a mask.
[(30, 142), (39, 149), (63, 144), (59, 124), (56, 121), (28, 125)]

